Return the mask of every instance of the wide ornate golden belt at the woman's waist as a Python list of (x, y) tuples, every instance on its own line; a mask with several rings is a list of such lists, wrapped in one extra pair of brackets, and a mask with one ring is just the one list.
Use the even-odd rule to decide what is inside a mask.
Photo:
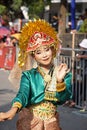
[(30, 111), (33, 112), (33, 115), (39, 117), (42, 120), (46, 120), (55, 115), (57, 107), (51, 102), (44, 101), (37, 105), (32, 105)]

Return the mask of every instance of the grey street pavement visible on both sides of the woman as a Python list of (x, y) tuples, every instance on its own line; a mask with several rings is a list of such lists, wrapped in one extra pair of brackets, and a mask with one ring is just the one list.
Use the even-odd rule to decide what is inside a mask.
[[(0, 112), (9, 110), (11, 101), (18, 89), (8, 80), (9, 71), (0, 69)], [(80, 112), (78, 108), (58, 106), (60, 126), (62, 130), (87, 130), (87, 111)], [(0, 130), (16, 130), (18, 115), (10, 121), (0, 122)]]

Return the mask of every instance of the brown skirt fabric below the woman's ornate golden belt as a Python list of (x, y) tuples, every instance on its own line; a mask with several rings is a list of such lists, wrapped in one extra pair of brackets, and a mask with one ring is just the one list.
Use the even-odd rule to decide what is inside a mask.
[(57, 112), (47, 119), (42, 120), (39, 116), (34, 116), (29, 108), (23, 108), (19, 113), (17, 130), (62, 130), (59, 125), (59, 115)]

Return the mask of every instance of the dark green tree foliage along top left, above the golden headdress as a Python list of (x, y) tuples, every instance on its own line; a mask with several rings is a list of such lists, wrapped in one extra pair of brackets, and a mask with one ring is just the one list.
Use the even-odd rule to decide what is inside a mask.
[(11, 18), (20, 17), (21, 6), (29, 8), (29, 18), (43, 17), (44, 7), (51, 3), (51, 0), (2, 0), (0, 1), (0, 14), (7, 9), (7, 14)]

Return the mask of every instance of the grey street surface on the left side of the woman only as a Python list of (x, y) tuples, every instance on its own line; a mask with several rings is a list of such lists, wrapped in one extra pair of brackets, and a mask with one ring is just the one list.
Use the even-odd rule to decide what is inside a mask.
[[(0, 112), (9, 110), (11, 101), (16, 95), (14, 88), (8, 80), (9, 71), (0, 70)], [(16, 130), (17, 116), (10, 121), (0, 122), (0, 130)]]

